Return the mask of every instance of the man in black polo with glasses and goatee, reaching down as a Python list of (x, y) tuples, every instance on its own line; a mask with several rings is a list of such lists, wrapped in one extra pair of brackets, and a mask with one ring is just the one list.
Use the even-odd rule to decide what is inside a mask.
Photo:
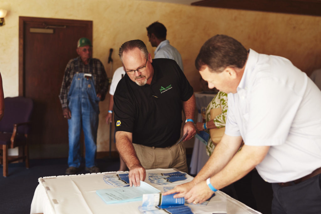
[(187, 118), (184, 141), (194, 137), (194, 91), (178, 64), (153, 59), (141, 40), (125, 42), (119, 56), (126, 74), (114, 94), (116, 146), (129, 168), (130, 185), (140, 185), (145, 169), (178, 168), (187, 172), (180, 138), (182, 109)]

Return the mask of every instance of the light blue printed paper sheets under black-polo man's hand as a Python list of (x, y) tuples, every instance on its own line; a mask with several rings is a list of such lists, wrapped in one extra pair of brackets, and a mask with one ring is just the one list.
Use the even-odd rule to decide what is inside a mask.
[(160, 190), (141, 181), (140, 186), (126, 186), (111, 189), (96, 190), (96, 193), (107, 204), (142, 201), (143, 194), (159, 193)]

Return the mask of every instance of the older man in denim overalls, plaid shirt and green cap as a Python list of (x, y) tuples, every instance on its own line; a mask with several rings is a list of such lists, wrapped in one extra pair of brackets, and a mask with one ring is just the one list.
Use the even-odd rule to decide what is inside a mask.
[(100, 172), (96, 166), (99, 101), (105, 99), (108, 79), (99, 59), (92, 58), (91, 41), (80, 38), (77, 42), (77, 58), (71, 59), (65, 69), (60, 90), (60, 102), (64, 118), (68, 119), (68, 168), (66, 174), (80, 170), (80, 133), (85, 138), (85, 169)]

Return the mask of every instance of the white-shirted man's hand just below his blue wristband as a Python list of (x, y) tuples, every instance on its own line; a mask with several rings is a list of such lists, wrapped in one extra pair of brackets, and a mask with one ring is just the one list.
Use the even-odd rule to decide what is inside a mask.
[(207, 186), (206, 181), (196, 184), (184, 196), (188, 203), (201, 204), (213, 195), (213, 191)]

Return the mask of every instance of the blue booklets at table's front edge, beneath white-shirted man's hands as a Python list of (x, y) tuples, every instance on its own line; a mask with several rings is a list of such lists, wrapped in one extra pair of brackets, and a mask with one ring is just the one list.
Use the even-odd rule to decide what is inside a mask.
[(162, 195), (156, 194), (143, 194), (142, 206), (138, 209), (144, 214), (159, 214), (159, 213), (172, 213), (172, 214), (192, 214), (191, 208), (184, 205), (184, 198), (174, 198), (174, 194)]

